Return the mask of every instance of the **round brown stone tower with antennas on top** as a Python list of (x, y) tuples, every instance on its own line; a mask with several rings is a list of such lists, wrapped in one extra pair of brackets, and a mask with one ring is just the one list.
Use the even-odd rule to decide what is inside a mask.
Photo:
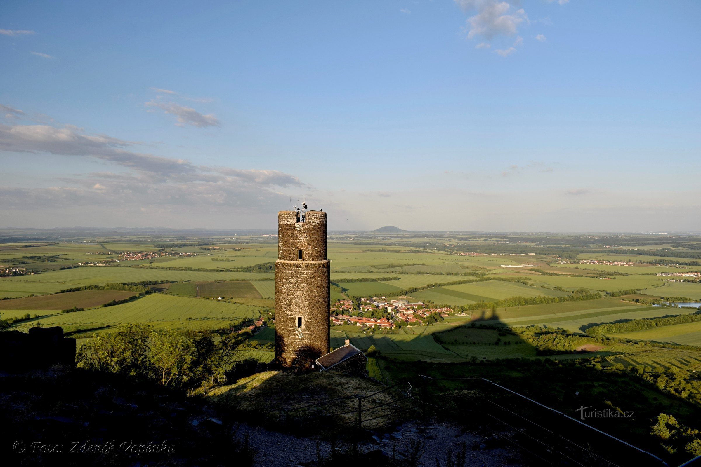
[(275, 360), (306, 370), (329, 351), (326, 213), (280, 211), (275, 261)]

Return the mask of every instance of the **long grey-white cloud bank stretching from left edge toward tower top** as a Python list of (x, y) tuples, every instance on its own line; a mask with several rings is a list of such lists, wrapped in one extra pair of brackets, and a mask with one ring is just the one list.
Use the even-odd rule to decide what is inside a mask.
[[(296, 176), (266, 169), (236, 169), (194, 165), (189, 160), (139, 153), (139, 141), (104, 134), (86, 134), (72, 125), (0, 125), (0, 151), (80, 157), (121, 167), (57, 179), (50, 188), (0, 187), (0, 204), (11, 209), (48, 209), (64, 202), (76, 206), (114, 205), (190, 209), (201, 215), (217, 207), (235, 211), (275, 211), (287, 206), (280, 188), (306, 188)], [(108, 169), (109, 170), (109, 169)], [(63, 206), (66, 206), (63, 204)], [(182, 214), (182, 213), (181, 213)]]

